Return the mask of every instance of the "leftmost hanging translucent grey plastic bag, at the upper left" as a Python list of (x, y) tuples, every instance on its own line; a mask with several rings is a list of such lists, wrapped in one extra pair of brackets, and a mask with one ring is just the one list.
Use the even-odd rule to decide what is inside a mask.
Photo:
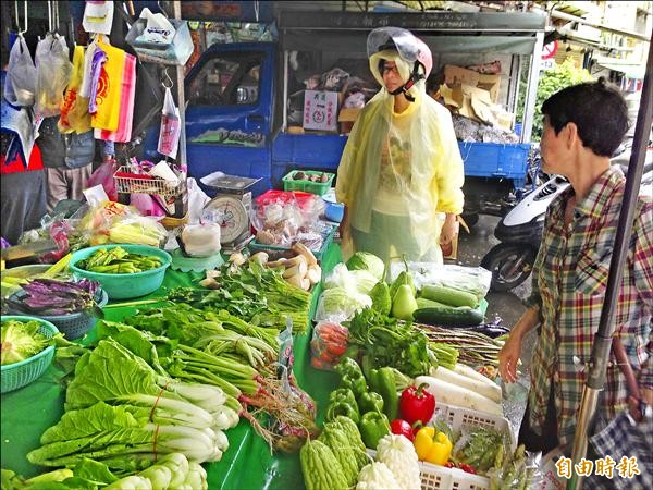
[(12, 106), (33, 106), (36, 95), (36, 66), (27, 42), (19, 35), (9, 54), (4, 98)]

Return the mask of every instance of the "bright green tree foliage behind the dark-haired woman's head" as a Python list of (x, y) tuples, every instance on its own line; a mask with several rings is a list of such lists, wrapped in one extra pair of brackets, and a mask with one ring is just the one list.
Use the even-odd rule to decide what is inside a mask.
[[(533, 130), (531, 140), (539, 142), (542, 137), (543, 121), (542, 121), (542, 103), (556, 91), (565, 87), (579, 84), (581, 82), (591, 82), (594, 77), (590, 75), (586, 69), (578, 69), (574, 65), (570, 59), (565, 60), (562, 64), (556, 64), (553, 70), (544, 71), (540, 76), (538, 84), (538, 98), (535, 100), (535, 113), (533, 117)], [(526, 99), (526, 81), (522, 81), (519, 87), (519, 100), (521, 103), (517, 109), (517, 120), (523, 121), (523, 103)]]

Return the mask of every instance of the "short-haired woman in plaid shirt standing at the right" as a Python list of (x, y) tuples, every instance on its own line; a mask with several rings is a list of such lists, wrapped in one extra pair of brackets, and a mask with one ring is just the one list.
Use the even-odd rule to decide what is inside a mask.
[[(506, 382), (517, 377), (523, 335), (539, 327), (531, 389), (519, 432), (528, 450), (549, 452), (572, 443), (593, 336), (599, 327), (625, 177), (609, 158), (628, 128), (627, 106), (603, 79), (565, 88), (542, 105), (542, 170), (570, 187), (546, 211), (528, 309), (500, 353)], [(624, 270), (616, 333), (653, 405), (653, 204), (640, 196)], [(626, 378), (614, 357), (607, 368), (601, 420), (627, 408)]]

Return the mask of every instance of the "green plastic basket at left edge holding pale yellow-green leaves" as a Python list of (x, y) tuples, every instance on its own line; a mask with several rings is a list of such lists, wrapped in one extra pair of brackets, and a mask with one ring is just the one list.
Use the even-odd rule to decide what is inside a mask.
[[(57, 327), (47, 320), (37, 317), (27, 317), (22, 315), (7, 315), (2, 317), (2, 321), (7, 320), (20, 320), (20, 321), (38, 321), (41, 327), (38, 329), (40, 333), (46, 335), (48, 339), (53, 338), (59, 333)], [(8, 364), (0, 368), (0, 378), (2, 384), (2, 393), (9, 393), (10, 391), (17, 390), (19, 388), (26, 387), (39, 376), (41, 376), (48, 366), (52, 363), (54, 357), (54, 345), (49, 345), (41, 352), (32, 356), (25, 360), (21, 360), (14, 364)]]

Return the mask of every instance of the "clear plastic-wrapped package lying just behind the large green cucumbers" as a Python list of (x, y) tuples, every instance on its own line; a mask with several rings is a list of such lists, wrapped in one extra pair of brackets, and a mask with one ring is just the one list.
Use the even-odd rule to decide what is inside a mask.
[[(394, 281), (401, 272), (406, 270), (404, 262), (395, 260), (390, 264), (390, 280)], [(412, 274), (415, 286), (418, 290), (424, 284), (442, 285), (455, 290), (468, 291), (479, 301), (490, 291), (492, 272), (482, 267), (464, 267), (433, 262), (408, 262), (408, 270)]]

